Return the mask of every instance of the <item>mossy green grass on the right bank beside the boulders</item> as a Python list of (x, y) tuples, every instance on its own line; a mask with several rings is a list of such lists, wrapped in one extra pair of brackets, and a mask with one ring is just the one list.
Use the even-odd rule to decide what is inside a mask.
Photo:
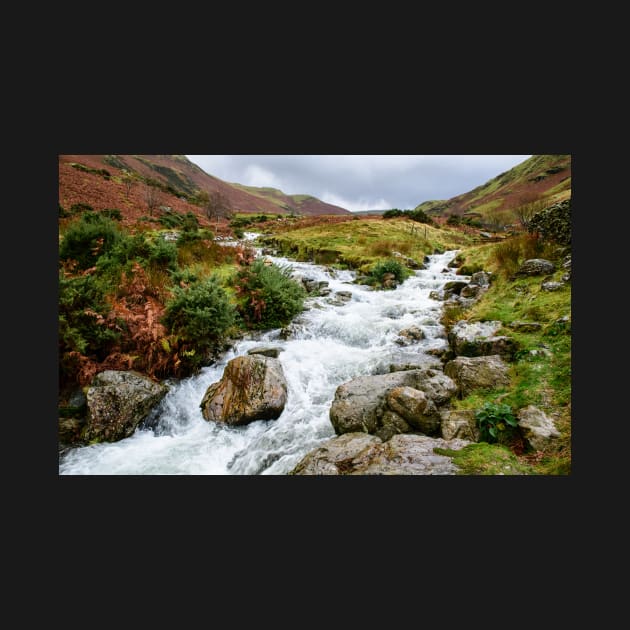
[[(492, 243), (461, 252), (467, 264), (478, 264), (494, 272), (494, 280), (471, 308), (455, 313), (443, 323), (448, 326), (456, 319), (500, 321), (503, 326), (497, 335), (515, 339), (520, 347), (510, 364), (510, 386), (478, 390), (462, 400), (453, 399), (452, 404), (456, 409), (478, 409), (485, 402), (501, 402), (515, 411), (535, 405), (555, 419), (561, 437), (542, 459), (532, 464), (533, 474), (567, 474), (571, 466), (571, 285), (548, 292), (541, 290), (542, 276), (514, 278), (500, 273), (494, 256), (499, 246)], [(560, 261), (554, 262), (558, 269), (551, 279), (559, 281), (564, 270)], [(565, 316), (569, 316), (568, 324), (557, 323)], [(515, 331), (509, 324), (517, 320), (538, 322), (541, 329)]]

